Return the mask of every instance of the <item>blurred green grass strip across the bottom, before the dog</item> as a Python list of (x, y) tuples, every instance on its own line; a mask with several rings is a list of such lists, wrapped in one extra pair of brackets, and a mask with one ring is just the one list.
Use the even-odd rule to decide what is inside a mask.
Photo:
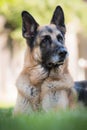
[(87, 110), (39, 112), (12, 116), (12, 108), (0, 110), (0, 130), (87, 130)]

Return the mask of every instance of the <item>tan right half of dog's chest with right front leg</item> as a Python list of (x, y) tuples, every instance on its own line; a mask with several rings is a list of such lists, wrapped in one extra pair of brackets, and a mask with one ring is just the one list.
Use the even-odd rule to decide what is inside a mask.
[(52, 108), (72, 108), (75, 105), (76, 92), (66, 64), (58, 70), (52, 70), (41, 86), (41, 105), (45, 111)]

